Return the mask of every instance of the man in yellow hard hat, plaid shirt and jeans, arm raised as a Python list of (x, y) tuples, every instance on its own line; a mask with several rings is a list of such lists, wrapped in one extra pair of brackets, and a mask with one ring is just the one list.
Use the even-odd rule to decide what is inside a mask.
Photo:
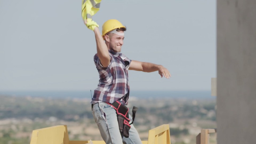
[[(161, 77), (165, 78), (170, 78), (171, 75), (162, 65), (130, 60), (120, 53), (126, 27), (119, 21), (115, 19), (106, 21), (102, 26), (102, 35), (94, 21), (85, 21), (85, 24), (94, 31), (97, 44), (94, 62), (100, 79), (98, 88), (94, 90), (91, 104), (93, 104), (93, 117), (101, 136), (106, 144), (141, 144), (133, 124), (131, 124), (128, 138), (119, 132), (116, 110), (110, 104), (119, 101), (127, 105), (130, 91), (128, 69), (143, 72), (158, 71)], [(132, 119), (131, 115), (129, 119)]]

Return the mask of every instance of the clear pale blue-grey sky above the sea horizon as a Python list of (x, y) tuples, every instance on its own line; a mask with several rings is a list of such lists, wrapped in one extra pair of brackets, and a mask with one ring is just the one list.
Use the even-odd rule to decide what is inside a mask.
[[(80, 0), (0, 1), (0, 91), (93, 90), (93, 31)], [(129, 71), (131, 90), (210, 90), (216, 77), (216, 0), (102, 0), (93, 20), (127, 27), (121, 53), (165, 66)]]

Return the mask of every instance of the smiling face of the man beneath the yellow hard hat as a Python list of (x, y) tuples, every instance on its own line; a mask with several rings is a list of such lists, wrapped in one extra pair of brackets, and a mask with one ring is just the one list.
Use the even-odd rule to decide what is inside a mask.
[[(119, 33), (123, 33), (123, 31), (119, 31)], [(123, 45), (123, 39), (125, 36), (120, 36), (117, 34), (111, 34), (109, 37), (109, 43), (110, 43), (110, 50), (113, 50), (115, 52), (121, 52), (121, 47)]]

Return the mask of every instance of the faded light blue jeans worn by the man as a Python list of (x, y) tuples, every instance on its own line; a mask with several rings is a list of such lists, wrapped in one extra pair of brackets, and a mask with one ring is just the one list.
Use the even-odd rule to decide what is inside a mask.
[[(129, 130), (129, 138), (124, 137), (120, 134), (117, 114), (115, 109), (105, 102), (98, 102), (93, 105), (93, 117), (101, 137), (106, 144), (142, 144), (139, 134), (133, 124)], [(132, 122), (132, 117), (129, 114), (129, 119)]]

